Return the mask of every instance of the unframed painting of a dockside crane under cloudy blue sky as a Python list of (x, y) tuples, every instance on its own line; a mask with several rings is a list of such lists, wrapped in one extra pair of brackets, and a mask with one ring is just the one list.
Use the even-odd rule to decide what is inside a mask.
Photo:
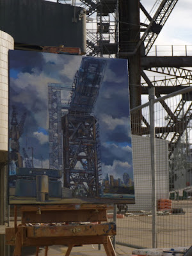
[(127, 60), (9, 52), (10, 204), (134, 203)]

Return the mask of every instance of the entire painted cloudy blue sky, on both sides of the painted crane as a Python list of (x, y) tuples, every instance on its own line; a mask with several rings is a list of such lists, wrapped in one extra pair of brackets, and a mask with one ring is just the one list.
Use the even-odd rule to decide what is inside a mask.
[[(82, 56), (42, 52), (10, 51), (10, 107), (18, 116), (27, 113), (20, 148), (25, 147), (34, 166), (49, 168), (49, 131), (47, 84), (72, 84)], [(108, 59), (106, 72), (93, 115), (100, 124), (102, 173), (132, 178), (131, 127), (127, 60)], [(63, 91), (68, 100), (70, 92)], [(12, 109), (10, 108), (10, 114)], [(18, 118), (19, 121), (19, 118)]]

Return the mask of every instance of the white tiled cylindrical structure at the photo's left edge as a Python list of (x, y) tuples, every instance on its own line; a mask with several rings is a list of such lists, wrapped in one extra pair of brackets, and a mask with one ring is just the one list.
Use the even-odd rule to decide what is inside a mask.
[(14, 49), (12, 36), (0, 31), (0, 158), (8, 151), (8, 50)]

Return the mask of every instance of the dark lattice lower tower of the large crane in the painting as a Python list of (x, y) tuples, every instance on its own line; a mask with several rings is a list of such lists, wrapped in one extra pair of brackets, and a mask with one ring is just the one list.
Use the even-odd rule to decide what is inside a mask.
[(70, 188), (74, 196), (99, 196), (96, 122), (90, 115), (70, 113), (62, 118), (64, 187)]

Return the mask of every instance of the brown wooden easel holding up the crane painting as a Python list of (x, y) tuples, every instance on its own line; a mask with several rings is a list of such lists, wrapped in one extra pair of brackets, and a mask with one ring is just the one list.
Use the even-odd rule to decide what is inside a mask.
[(113, 205), (24, 205), (20, 209), (21, 224), (17, 225), (15, 206), (15, 227), (6, 228), (6, 244), (15, 246), (13, 256), (20, 256), (22, 246), (36, 246), (36, 256), (39, 246), (46, 246), (47, 256), (48, 246), (53, 244), (67, 245), (65, 256), (79, 244), (103, 244), (107, 256), (116, 256), (109, 237), (116, 235), (116, 226), (100, 223), (107, 221), (108, 209)]

